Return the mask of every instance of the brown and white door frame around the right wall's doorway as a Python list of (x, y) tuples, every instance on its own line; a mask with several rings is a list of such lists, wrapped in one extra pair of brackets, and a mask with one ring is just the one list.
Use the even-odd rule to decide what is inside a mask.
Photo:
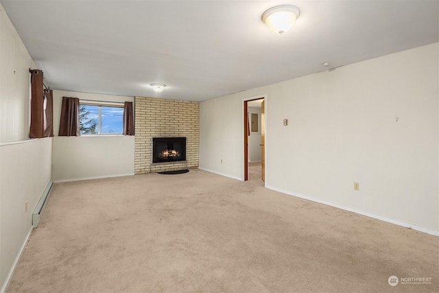
[[(265, 162), (267, 161), (267, 95), (257, 95), (254, 97), (247, 97), (242, 99), (242, 108), (243, 108), (243, 157), (244, 157), (244, 165), (243, 165), (243, 170), (242, 170), (242, 178), (244, 178), (244, 181), (248, 180), (248, 135), (247, 135), (247, 131), (248, 131), (248, 102), (250, 101), (255, 101), (257, 99), (264, 99), (265, 103), (264, 103), (264, 112), (265, 112), (265, 121), (264, 121), (264, 126), (265, 126), (265, 142), (264, 142), (264, 148), (265, 148)], [(267, 174), (267, 164), (265, 163), (265, 170), (264, 170), (265, 174)], [(265, 183), (264, 183), (265, 185)]]

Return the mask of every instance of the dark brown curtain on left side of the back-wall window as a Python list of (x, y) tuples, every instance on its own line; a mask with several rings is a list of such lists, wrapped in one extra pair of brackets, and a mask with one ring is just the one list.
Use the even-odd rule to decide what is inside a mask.
[(78, 97), (62, 97), (60, 137), (79, 137), (80, 99)]

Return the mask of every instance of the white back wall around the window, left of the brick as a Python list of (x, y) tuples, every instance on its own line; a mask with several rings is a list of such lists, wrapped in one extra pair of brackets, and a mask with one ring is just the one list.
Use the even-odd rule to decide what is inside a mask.
[(62, 97), (134, 102), (134, 97), (54, 91), (54, 181), (134, 175), (134, 136), (58, 137)]

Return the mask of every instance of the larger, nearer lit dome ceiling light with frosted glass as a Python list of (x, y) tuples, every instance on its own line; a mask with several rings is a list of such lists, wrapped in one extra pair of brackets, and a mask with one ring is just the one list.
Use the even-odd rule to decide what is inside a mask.
[(262, 21), (273, 32), (283, 34), (287, 32), (300, 15), (300, 10), (294, 5), (278, 5), (263, 12)]

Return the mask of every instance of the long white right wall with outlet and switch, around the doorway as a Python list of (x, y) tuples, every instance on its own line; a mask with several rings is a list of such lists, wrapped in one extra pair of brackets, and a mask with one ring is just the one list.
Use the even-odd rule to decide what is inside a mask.
[(200, 168), (243, 178), (243, 99), (266, 95), (267, 187), (439, 233), (438, 52), (434, 43), (202, 102)]

